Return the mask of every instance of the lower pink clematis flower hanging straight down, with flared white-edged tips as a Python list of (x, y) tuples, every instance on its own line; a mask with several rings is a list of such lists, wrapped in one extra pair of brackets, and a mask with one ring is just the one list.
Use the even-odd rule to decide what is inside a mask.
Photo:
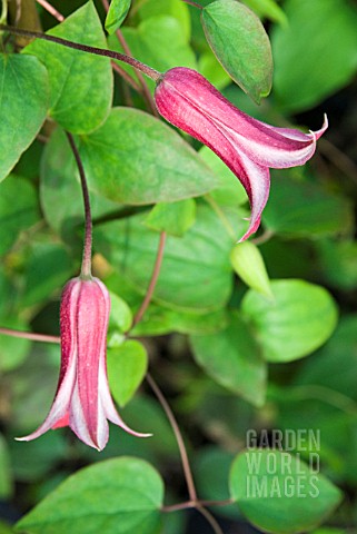
[(107, 329), (110, 297), (98, 279), (73, 278), (65, 287), (60, 309), (61, 369), (52, 407), (30, 441), (50, 428), (70, 426), (87, 445), (101, 451), (109, 436), (108, 422), (139, 437), (113, 405), (107, 377)]

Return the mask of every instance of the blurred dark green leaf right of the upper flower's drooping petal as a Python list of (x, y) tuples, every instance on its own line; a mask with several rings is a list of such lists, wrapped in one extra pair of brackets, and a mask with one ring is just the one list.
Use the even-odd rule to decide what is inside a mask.
[(317, 184), (294, 180), (289, 172), (274, 180), (262, 215), (268, 230), (308, 239), (348, 231), (353, 220), (349, 200)]

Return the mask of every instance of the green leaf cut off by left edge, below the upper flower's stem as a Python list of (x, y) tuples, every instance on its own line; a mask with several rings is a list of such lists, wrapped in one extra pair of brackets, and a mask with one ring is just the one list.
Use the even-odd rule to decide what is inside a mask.
[(37, 58), (0, 55), (0, 181), (31, 145), (48, 110), (48, 75)]

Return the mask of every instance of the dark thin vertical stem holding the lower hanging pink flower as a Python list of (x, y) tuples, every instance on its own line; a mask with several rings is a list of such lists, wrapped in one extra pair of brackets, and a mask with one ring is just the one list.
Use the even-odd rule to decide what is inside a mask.
[(73, 136), (68, 131), (66, 134), (77, 162), (77, 167), (80, 176), (80, 184), (81, 184), (82, 194), (83, 194), (86, 222), (85, 222), (83, 256), (82, 256), (82, 266), (81, 266), (80, 277), (85, 280), (88, 280), (91, 278), (91, 246), (92, 246), (92, 222), (91, 222), (91, 209), (90, 209), (88, 184), (87, 184), (83, 164), (80, 159), (79, 151), (76, 146)]

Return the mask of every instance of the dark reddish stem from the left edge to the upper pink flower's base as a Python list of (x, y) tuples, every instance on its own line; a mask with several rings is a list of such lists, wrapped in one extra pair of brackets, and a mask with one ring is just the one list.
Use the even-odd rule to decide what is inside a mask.
[(88, 44), (80, 44), (79, 42), (69, 41), (68, 39), (62, 39), (56, 36), (49, 36), (47, 33), (41, 33), (38, 31), (22, 30), (20, 28), (13, 28), (12, 26), (0, 24), (0, 31), (9, 31), (16, 36), (23, 36), (33, 39), (42, 39), (44, 41), (54, 42), (63, 47), (72, 48), (73, 50), (80, 50), (82, 52), (93, 53), (96, 56), (103, 56), (106, 58), (117, 59), (118, 61), (123, 61), (125, 63), (130, 65), (135, 69), (140, 70), (146, 76), (157, 81), (161, 73), (152, 69), (148, 65), (138, 61), (135, 58), (120, 52), (115, 52), (113, 50), (108, 50), (106, 48), (89, 47)]

